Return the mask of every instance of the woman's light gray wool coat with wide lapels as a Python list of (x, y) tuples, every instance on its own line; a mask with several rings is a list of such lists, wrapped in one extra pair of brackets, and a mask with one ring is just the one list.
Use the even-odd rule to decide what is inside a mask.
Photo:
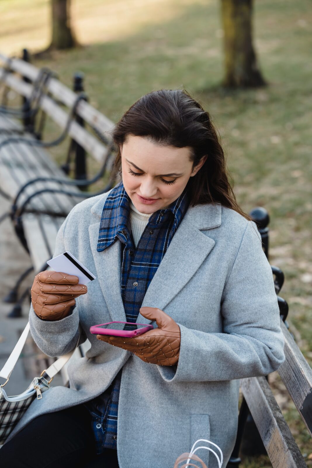
[[(269, 263), (252, 221), (219, 204), (189, 207), (146, 291), (142, 306), (158, 307), (180, 326), (177, 366), (143, 362), (91, 335), (91, 325), (126, 321), (120, 290), (121, 242), (97, 252), (109, 192), (89, 198), (61, 226), (55, 256), (70, 251), (97, 277), (58, 322), (30, 309), (30, 330), (49, 356), (89, 339), (85, 358), (68, 367), (70, 388), (34, 400), (10, 440), (33, 418), (101, 394), (123, 368), (117, 427), (120, 468), (173, 468), (197, 439), (218, 444), (226, 466), (234, 446), (239, 379), (266, 375), (284, 360), (283, 334)], [(137, 322), (151, 323), (141, 314)], [(156, 323), (152, 322), (154, 327)], [(40, 428), (47, 431), (49, 428)], [(208, 450), (197, 454), (216, 468)]]

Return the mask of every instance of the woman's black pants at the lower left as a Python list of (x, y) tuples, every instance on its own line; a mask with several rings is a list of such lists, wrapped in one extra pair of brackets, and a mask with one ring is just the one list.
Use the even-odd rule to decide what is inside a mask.
[(119, 468), (117, 451), (96, 455), (91, 416), (83, 405), (44, 414), (0, 448), (1, 468)]

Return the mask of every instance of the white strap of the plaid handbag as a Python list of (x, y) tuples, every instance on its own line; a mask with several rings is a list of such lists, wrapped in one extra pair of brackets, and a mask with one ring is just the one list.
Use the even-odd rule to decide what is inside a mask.
[[(15, 367), (17, 359), (20, 357), (20, 354), (22, 352), (24, 344), (25, 344), (25, 342), (27, 340), (28, 333), (29, 333), (29, 322), (27, 323), (24, 331), (22, 332), (22, 335), (20, 336), (18, 342), (15, 344), (14, 350), (11, 352), (9, 358), (7, 359), (7, 362), (5, 363), (5, 365), (0, 370), (0, 377), (3, 377), (6, 380), (9, 379), (9, 377), (10, 377), (10, 375), (11, 375), (11, 373), (12, 373), (14, 367)], [(75, 349), (77, 348), (78, 343), (79, 343), (80, 333), (81, 333), (81, 329), (80, 329), (80, 326), (79, 326), (79, 337), (78, 337), (78, 342), (76, 344)], [(46, 369), (44, 371), (45, 373), (48, 374), (50, 379), (52, 379), (54, 377), (54, 375), (57, 374), (62, 369), (63, 366), (65, 366), (66, 362), (72, 357), (75, 349), (73, 351), (67, 353), (67, 354), (64, 354), (64, 356), (61, 356), (60, 358), (58, 358), (55, 362), (53, 362), (53, 364), (51, 364), (50, 367), (48, 367), (48, 369)], [(2, 387), (4, 385), (5, 384), (3, 384)]]

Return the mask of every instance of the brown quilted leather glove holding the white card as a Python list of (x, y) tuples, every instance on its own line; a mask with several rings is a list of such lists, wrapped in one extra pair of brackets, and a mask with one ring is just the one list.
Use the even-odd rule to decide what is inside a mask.
[(31, 287), (31, 303), (36, 315), (43, 320), (61, 320), (75, 305), (75, 297), (86, 294), (87, 286), (79, 279), (60, 271), (41, 271)]

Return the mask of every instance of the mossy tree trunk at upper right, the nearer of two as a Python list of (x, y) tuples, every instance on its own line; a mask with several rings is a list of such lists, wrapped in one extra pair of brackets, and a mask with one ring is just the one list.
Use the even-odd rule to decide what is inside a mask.
[(258, 68), (252, 39), (253, 0), (221, 0), (227, 88), (266, 85)]

